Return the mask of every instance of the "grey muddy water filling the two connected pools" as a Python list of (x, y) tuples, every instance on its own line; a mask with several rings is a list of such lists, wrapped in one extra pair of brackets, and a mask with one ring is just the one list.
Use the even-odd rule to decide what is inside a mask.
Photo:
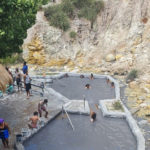
[[(85, 89), (87, 83), (91, 85), (89, 90)], [(54, 80), (51, 88), (69, 99), (80, 100), (85, 95), (90, 108), (97, 113), (97, 121), (91, 123), (89, 116), (70, 114), (73, 131), (68, 119), (58, 117), (28, 139), (25, 150), (136, 150), (136, 139), (127, 122), (103, 117), (95, 107), (98, 100), (115, 98), (115, 90), (105, 78), (62, 78)]]

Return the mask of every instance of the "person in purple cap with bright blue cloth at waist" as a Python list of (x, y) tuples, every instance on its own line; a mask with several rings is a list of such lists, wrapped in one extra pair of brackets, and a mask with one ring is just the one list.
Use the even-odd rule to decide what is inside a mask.
[(4, 148), (9, 148), (9, 134), (11, 134), (10, 128), (4, 119), (0, 118), (0, 139), (4, 145)]

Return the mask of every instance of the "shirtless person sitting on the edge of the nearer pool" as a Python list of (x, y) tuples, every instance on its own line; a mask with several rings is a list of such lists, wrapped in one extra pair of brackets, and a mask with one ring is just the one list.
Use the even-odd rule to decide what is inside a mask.
[(38, 112), (35, 111), (33, 116), (29, 119), (30, 123), (28, 124), (30, 129), (37, 128), (37, 123), (39, 121)]

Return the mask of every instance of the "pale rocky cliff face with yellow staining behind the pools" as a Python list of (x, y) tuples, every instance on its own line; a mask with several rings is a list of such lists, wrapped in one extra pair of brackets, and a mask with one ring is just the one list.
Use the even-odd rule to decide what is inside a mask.
[[(101, 72), (122, 72), (138, 68), (149, 72), (150, 1), (104, 0), (93, 29), (86, 19), (70, 20), (67, 32), (49, 26), (44, 12), (28, 30), (23, 57), (33, 64), (93, 68)], [(77, 37), (71, 39), (70, 31)], [(106, 59), (108, 58), (109, 59)], [(111, 56), (111, 57), (110, 57)]]

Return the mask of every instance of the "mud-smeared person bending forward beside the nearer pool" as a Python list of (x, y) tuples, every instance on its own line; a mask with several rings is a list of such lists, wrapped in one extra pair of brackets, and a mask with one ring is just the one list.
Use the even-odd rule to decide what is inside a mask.
[(40, 117), (42, 117), (42, 111), (45, 111), (45, 118), (47, 118), (47, 116), (48, 116), (48, 111), (46, 109), (47, 104), (48, 104), (48, 100), (47, 99), (44, 99), (44, 101), (40, 101), (39, 102), (39, 104), (38, 104), (38, 112), (39, 112)]

